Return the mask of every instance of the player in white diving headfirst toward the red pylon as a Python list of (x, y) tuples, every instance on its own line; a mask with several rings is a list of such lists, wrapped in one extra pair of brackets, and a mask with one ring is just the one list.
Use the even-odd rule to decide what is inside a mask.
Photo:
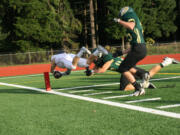
[[(86, 49), (85, 47), (82, 47), (80, 51), (75, 55), (72, 53), (66, 53), (62, 51), (59, 54), (53, 55), (51, 57), (51, 73), (53, 73), (54, 77), (56, 79), (60, 78), (63, 75), (69, 75), (71, 73), (72, 69), (76, 69), (76, 67), (85, 67), (87, 70), (89, 68), (89, 65), (87, 64), (87, 59), (81, 58), (83, 53), (91, 54), (91, 52)], [(66, 72), (59, 72), (56, 71), (55, 68), (66, 68)]]

